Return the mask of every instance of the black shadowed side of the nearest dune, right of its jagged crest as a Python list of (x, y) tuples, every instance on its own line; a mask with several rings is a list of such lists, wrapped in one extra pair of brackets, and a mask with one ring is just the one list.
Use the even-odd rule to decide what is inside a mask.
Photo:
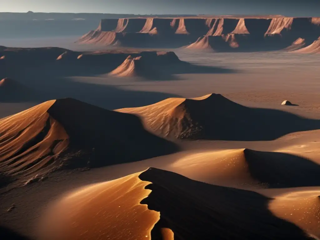
[(151, 231), (162, 238), (170, 228), (174, 239), (313, 239), (296, 225), (277, 218), (268, 210), (271, 200), (258, 193), (220, 187), (182, 175), (150, 168), (139, 178), (152, 190), (141, 204), (160, 212)]

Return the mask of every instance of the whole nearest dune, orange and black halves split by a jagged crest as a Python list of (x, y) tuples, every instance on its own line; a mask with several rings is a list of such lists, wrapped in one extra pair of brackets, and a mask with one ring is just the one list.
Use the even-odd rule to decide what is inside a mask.
[(65, 196), (45, 215), (41, 233), (42, 239), (312, 239), (272, 215), (269, 201), (150, 168)]

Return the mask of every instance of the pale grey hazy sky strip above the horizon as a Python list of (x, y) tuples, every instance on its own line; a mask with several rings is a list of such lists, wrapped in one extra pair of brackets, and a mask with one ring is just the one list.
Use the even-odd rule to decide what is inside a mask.
[(320, 0), (0, 0), (0, 12), (320, 15)]

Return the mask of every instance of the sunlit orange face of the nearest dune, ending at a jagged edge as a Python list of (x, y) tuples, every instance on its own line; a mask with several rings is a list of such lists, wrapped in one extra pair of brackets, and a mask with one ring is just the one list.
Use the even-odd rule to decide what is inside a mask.
[[(150, 184), (140, 172), (84, 187), (62, 198), (42, 222), (41, 239), (151, 239), (159, 212), (140, 202)], [(57, 219), (57, 216), (59, 216)], [(88, 221), (90, 219), (90, 221)], [(69, 228), (74, 222), (75, 227)], [(63, 224), (61, 224), (63, 223)]]

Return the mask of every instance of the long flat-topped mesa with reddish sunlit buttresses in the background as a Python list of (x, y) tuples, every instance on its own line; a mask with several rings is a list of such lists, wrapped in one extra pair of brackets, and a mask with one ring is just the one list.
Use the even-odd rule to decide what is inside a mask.
[[(111, 29), (111, 30), (110, 30)], [(294, 41), (312, 44), (320, 18), (137, 18), (101, 20), (78, 42), (129, 47), (212, 48), (215, 51), (275, 51)], [(212, 45), (214, 44), (214, 45)]]

